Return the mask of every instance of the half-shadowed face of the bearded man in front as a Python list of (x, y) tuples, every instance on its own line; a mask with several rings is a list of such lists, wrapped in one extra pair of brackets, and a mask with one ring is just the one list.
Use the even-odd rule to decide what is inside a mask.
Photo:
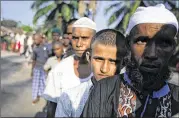
[[(164, 24), (139, 24), (138, 33), (131, 39), (132, 55), (139, 69), (148, 73), (159, 73), (173, 54), (174, 33), (168, 33)], [(161, 33), (162, 31), (162, 33)]]

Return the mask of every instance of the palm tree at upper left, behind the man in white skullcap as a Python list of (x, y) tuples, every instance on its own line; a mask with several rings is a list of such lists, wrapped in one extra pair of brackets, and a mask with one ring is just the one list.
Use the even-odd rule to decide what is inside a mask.
[[(90, 2), (91, 3), (91, 2)], [(42, 27), (43, 32), (50, 34), (51, 28), (59, 27), (64, 30), (65, 24), (74, 18), (76, 14), (88, 16), (87, 4), (83, 0), (37, 0), (34, 1), (31, 9), (36, 13), (33, 18), (33, 24), (45, 16), (45, 23)], [(84, 8), (84, 9), (82, 9)]]

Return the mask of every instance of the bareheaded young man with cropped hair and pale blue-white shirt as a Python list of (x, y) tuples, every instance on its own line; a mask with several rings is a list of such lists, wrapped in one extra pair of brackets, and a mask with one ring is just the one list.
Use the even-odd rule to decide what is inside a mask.
[[(108, 49), (108, 50), (106, 50)], [(87, 60), (94, 75), (91, 80), (63, 92), (58, 100), (56, 117), (80, 117), (90, 89), (96, 81), (119, 73), (124, 55), (125, 38), (115, 30), (99, 31), (93, 38)]]

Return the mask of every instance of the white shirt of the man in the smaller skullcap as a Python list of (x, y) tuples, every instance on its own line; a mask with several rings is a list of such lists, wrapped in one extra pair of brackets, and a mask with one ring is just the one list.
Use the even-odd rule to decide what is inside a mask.
[[(89, 76), (92, 77), (92, 74)], [(82, 82), (88, 81), (89, 77), (80, 79), (74, 72), (74, 57), (63, 59), (52, 69), (47, 77), (47, 85), (42, 97), (46, 100), (57, 102), (60, 94), (67, 89), (73, 88)]]

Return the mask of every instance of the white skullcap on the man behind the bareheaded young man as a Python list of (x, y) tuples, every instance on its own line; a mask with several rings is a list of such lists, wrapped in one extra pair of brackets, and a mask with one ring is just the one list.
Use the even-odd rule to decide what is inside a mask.
[(72, 27), (90, 28), (96, 31), (96, 23), (87, 17), (82, 17), (74, 22)]

